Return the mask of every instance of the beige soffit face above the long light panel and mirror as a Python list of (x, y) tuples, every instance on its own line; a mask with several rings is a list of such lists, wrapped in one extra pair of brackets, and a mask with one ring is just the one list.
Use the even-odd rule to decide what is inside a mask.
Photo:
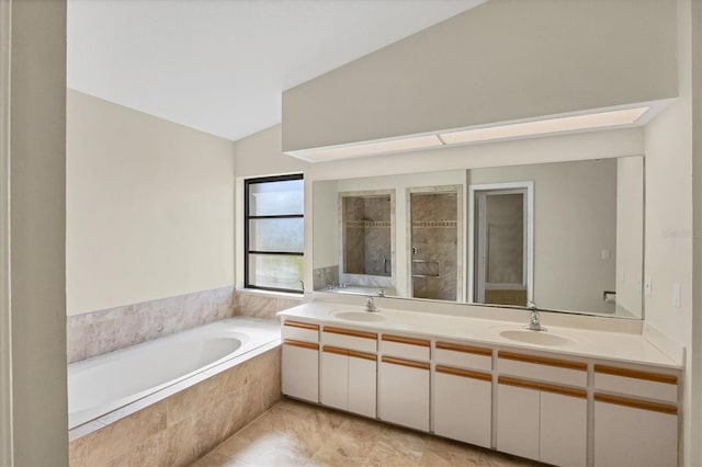
[(675, 98), (675, 0), (491, 0), (283, 93), (284, 150)]

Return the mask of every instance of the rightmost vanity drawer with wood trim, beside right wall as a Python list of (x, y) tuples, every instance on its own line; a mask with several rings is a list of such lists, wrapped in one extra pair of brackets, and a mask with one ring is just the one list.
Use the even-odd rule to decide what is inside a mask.
[(675, 375), (595, 365), (595, 387), (668, 402), (678, 401), (678, 377)]

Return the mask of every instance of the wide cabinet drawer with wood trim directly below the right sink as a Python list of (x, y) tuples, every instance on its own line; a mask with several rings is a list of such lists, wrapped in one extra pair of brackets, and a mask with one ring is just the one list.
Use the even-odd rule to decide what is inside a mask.
[(588, 365), (581, 362), (500, 351), (497, 358), (497, 369), (500, 374), (556, 384), (573, 386), (587, 386), (588, 384)]

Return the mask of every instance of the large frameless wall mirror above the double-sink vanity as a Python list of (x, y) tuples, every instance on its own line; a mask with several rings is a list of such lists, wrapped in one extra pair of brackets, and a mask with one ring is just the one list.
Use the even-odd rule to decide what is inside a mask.
[(643, 157), (316, 181), (314, 288), (641, 319)]

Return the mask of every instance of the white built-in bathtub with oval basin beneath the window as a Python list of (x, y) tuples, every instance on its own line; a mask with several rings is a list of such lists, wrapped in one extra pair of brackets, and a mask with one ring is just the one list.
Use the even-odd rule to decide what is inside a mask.
[(279, 344), (280, 338), (278, 321), (236, 317), (71, 363), (68, 428), (138, 406), (140, 400), (158, 400), (161, 392), (168, 397), (189, 387), (190, 380), (202, 380), (199, 376), (216, 374)]

